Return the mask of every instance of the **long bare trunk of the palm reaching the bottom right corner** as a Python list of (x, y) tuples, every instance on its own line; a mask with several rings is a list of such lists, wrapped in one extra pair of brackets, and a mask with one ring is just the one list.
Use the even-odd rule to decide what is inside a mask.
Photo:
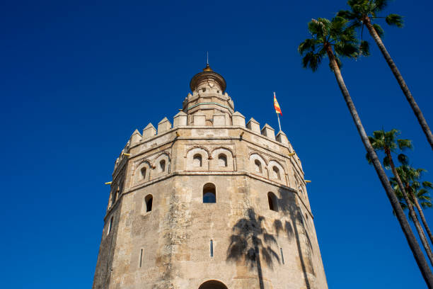
[(433, 289), (432, 271), (430, 271), (429, 264), (425, 260), (424, 254), (422, 254), (420, 245), (418, 244), (417, 239), (415, 238), (415, 235), (412, 232), (412, 229), (410, 229), (409, 222), (406, 219), (406, 215), (400, 206), (400, 202), (398, 201), (398, 198), (396, 197), (393, 188), (391, 187), (391, 183), (389, 183), (388, 176), (386, 176), (385, 171), (383, 171), (381, 162), (379, 162), (379, 158), (377, 157), (376, 152), (374, 152), (374, 149), (371, 146), (369, 137), (366, 135), (364, 126), (361, 123), (361, 119), (359, 118), (357, 109), (354, 106), (349, 91), (347, 90), (345, 81), (342, 78), (340, 68), (337, 65), (337, 61), (335, 60), (335, 55), (333, 53), (332, 47), (330, 46), (326, 47), (326, 52), (328, 53), (330, 65), (335, 74), (335, 79), (337, 79), (338, 86), (340, 86), (341, 93), (345, 98), (347, 108), (349, 108), (354, 124), (357, 127), (359, 136), (361, 137), (361, 140), (364, 143), (364, 147), (369, 154), (374, 169), (376, 169), (376, 173), (379, 176), (382, 186), (383, 188), (385, 188), (386, 196), (388, 196), (391, 206), (393, 207), (394, 212), (396, 212), (397, 220), (400, 223), (400, 227), (403, 230), (403, 233), (405, 234), (410, 249), (412, 250), (412, 254), (415, 257), (415, 261), (417, 261), (417, 265), (420, 268), (422, 277), (424, 278), (425, 283), (427, 283), (428, 288)]

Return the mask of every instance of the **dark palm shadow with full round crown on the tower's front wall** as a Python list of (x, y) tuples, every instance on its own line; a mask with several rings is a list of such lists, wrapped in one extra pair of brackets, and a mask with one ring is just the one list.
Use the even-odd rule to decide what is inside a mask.
[(269, 234), (263, 226), (265, 217), (256, 215), (253, 208), (249, 208), (247, 216), (238, 220), (233, 226), (227, 249), (227, 261), (245, 260), (250, 269), (257, 268), (260, 289), (264, 289), (262, 261), (269, 268), (273, 268), (274, 259), (279, 263), (278, 254), (272, 249), (277, 240)]

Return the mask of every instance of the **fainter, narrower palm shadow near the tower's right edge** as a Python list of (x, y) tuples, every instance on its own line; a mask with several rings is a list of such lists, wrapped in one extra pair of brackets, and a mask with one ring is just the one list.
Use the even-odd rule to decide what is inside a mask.
[[(289, 240), (295, 239), (296, 249), (299, 254), (299, 262), (304, 274), (305, 285), (311, 289), (311, 280), (308, 279), (308, 273), (316, 275), (311, 261), (313, 246), (308, 236), (308, 222), (302, 214), (301, 208), (296, 203), (296, 195), (290, 191), (279, 189), (278, 209), (284, 216), (289, 217), (290, 222), (281, 220), (274, 221), (274, 229), (279, 236), (280, 232), (285, 232)], [(301, 236), (304, 238), (301, 239)]]

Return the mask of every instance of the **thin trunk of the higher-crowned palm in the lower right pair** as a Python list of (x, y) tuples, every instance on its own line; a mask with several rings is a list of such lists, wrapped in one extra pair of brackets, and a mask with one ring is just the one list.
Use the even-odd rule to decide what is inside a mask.
[(386, 156), (388, 157), (389, 164), (391, 165), (391, 170), (393, 171), (394, 177), (397, 180), (398, 187), (400, 188), (400, 191), (403, 194), (403, 197), (405, 198), (406, 205), (408, 205), (410, 217), (412, 217), (413, 224), (415, 225), (415, 228), (417, 229), (417, 232), (420, 235), (422, 246), (424, 246), (424, 249), (427, 252), (427, 256), (429, 257), (430, 263), (432, 263), (433, 265), (432, 249), (430, 249), (429, 242), (427, 242), (427, 238), (425, 237), (424, 230), (421, 227), (420, 220), (418, 220), (417, 213), (413, 209), (412, 202), (409, 199), (408, 193), (406, 193), (405, 186), (403, 186), (400, 176), (398, 175), (396, 166), (394, 165), (393, 162), (393, 157), (391, 156), (391, 151), (388, 148), (385, 148), (385, 153)]

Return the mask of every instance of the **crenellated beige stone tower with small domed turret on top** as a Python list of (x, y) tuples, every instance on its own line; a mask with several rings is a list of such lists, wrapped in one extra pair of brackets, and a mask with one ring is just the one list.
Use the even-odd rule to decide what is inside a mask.
[(328, 288), (299, 157), (207, 65), (115, 162), (94, 289)]

